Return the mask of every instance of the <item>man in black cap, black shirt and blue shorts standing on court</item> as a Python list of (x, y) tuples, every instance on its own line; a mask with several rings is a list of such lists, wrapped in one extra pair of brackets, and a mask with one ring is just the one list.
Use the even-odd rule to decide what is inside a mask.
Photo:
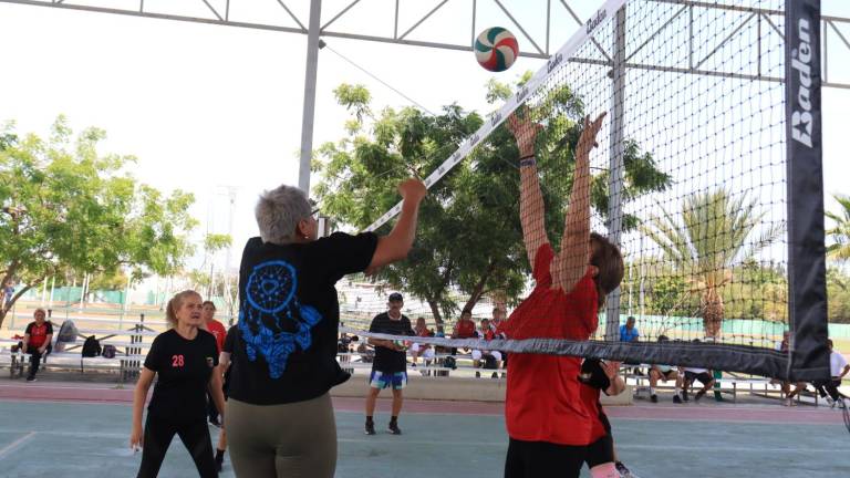
[[(392, 335), (415, 335), (411, 326), (411, 320), (402, 314), (404, 298), (398, 292), (390, 294), (387, 311), (372, 319), (370, 332)], [(366, 435), (375, 434), (375, 423), (372, 416), (375, 413), (375, 401), (382, 389), (393, 388), (393, 416), (387, 429), (393, 435), (401, 435), (398, 428), (398, 414), (402, 412), (402, 389), (407, 385), (407, 361), (405, 351), (407, 347), (400, 342), (390, 340), (370, 339), (369, 343), (375, 346), (375, 361), (372, 363), (372, 375), (369, 380), (370, 391), (366, 396)]]

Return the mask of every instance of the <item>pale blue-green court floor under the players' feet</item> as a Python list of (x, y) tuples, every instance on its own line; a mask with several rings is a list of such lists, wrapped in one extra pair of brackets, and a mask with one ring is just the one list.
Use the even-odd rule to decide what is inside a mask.
[[(365, 436), (359, 402), (338, 406), (341, 478), (500, 477), (507, 447), (499, 415), (415, 413), (402, 415), (402, 436), (384, 432), (387, 414), (376, 416), (379, 434)], [(667, 405), (657, 405), (664, 407)], [(754, 406), (724, 405), (737, 412), (730, 420), (699, 418), (712, 404), (690, 404), (694, 419), (612, 418), (621, 458), (641, 478), (687, 477), (847, 477), (850, 434), (830, 409), (776, 405), (773, 423), (746, 422)], [(386, 403), (382, 404), (386, 409)], [(630, 416), (642, 406), (630, 407)], [(646, 407), (649, 408), (649, 407)], [(662, 408), (663, 412), (663, 408)], [(764, 416), (763, 414), (758, 416)], [(795, 413), (816, 424), (787, 423)], [(809, 415), (811, 414), (811, 415)], [(616, 415), (621, 415), (620, 418)], [(640, 414), (638, 414), (640, 415)], [(654, 416), (657, 417), (657, 413)], [(661, 414), (663, 415), (663, 413)], [(141, 454), (127, 448), (127, 404), (0, 401), (0, 477), (133, 477)], [(217, 430), (210, 428), (214, 437)], [(229, 463), (222, 477), (232, 477)], [(197, 476), (178, 438), (160, 475)]]

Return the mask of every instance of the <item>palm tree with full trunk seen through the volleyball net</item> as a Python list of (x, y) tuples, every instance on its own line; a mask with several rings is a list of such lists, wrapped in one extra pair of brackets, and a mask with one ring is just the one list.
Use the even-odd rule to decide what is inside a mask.
[(682, 201), (680, 218), (660, 206), (661, 217), (641, 230), (662, 250), (674, 270), (687, 274), (691, 292), (699, 294), (706, 336), (721, 333), (724, 303), (721, 288), (732, 280), (732, 267), (754, 258), (785, 231), (785, 222), (765, 225), (761, 236), (747, 240), (761, 225), (765, 211), (756, 200), (737, 198), (726, 189), (694, 193)]

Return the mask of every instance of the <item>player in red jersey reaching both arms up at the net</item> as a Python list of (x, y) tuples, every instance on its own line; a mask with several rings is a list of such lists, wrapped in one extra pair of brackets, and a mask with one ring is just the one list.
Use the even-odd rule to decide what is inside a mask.
[[(545, 229), (535, 158), (535, 139), (541, 126), (529, 119), (527, 110), (522, 113), (511, 115), (508, 128), (519, 148), (520, 222), (537, 283), (499, 332), (511, 340), (588, 340), (597, 329), (599, 308), (619, 287), (624, 270), (620, 250), (590, 231), (590, 150), (604, 114), (583, 122), (574, 149), (570, 207), (557, 252)], [(510, 438), (506, 478), (579, 477), (599, 419), (582, 401), (580, 373), (578, 357), (511, 355), (505, 403)]]

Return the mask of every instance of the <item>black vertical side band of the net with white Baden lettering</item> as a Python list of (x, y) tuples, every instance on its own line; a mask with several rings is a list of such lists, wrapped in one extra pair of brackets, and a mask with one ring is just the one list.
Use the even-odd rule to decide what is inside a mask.
[(820, 0), (786, 0), (787, 376), (829, 378), (820, 114)]

